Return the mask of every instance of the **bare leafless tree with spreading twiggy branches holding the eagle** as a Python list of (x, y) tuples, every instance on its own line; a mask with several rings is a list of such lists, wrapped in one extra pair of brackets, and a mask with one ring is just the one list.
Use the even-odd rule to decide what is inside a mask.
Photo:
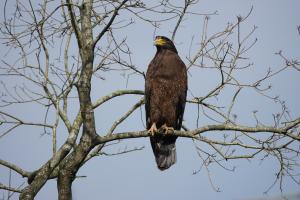
[[(273, 157), (279, 166), (274, 184), (279, 182), (280, 188), (283, 187), (285, 177), (299, 184), (300, 117), (294, 117), (285, 102), (270, 93), (272, 86), (268, 85), (278, 74), (291, 69), (299, 71), (299, 61), (280, 51), (277, 56), (284, 61), (283, 66), (268, 70), (262, 77), (241, 78), (242, 73), (251, 73), (258, 68), (248, 59), (249, 51), (257, 42), (253, 38), (256, 27), (247, 33), (242, 31), (252, 8), (223, 30), (210, 33), (209, 19), (216, 12), (194, 12), (192, 8), (197, 3), (196, 0), (186, 0), (178, 5), (165, 0), (151, 3), (138, 0), (44, 0), (37, 3), (29, 0), (12, 4), (6, 0), (1, 38), (7, 45), (7, 55), (14, 61), (6, 59), (1, 64), (1, 76), (5, 78), (1, 82), (0, 137), (11, 134), (17, 127), (42, 128), (44, 133), (52, 136), (53, 155), (34, 171), (0, 160), (1, 165), (28, 179), (28, 184), (21, 188), (4, 184), (0, 187), (20, 193), (20, 199), (33, 199), (48, 180), (56, 179), (59, 199), (72, 199), (72, 183), (78, 170), (90, 159), (106, 154), (105, 148), (117, 145), (115, 141), (148, 137), (146, 130), (116, 132), (143, 105), (143, 90), (119, 89), (99, 96), (102, 92), (98, 84), (117, 71), (119, 76), (115, 80), (122, 76), (127, 81), (137, 78), (140, 81), (138, 87), (143, 88), (144, 70), (134, 63), (136, 55), (132, 53), (132, 43), (122, 31), (136, 23), (146, 23), (155, 32), (160, 29), (160, 24), (170, 23), (173, 25), (171, 38), (176, 42), (184, 19), (199, 15), (204, 16), (201, 33), (184, 41), (190, 43), (189, 52), (184, 56), (190, 76), (209, 70), (214, 85), (200, 93), (197, 82), (190, 84), (187, 103), (195, 119), (190, 119), (186, 113), (188, 120), (184, 130), (173, 134), (193, 139), (206, 169), (217, 163), (233, 170), (227, 168), (226, 161)], [(9, 79), (14, 79), (18, 85), (11, 87)], [(275, 114), (269, 116), (273, 123), (269, 121), (265, 125), (259, 110), (252, 113), (254, 123), (244, 125), (240, 122), (240, 112), (235, 107), (242, 101), (244, 91), (254, 92), (277, 106)], [(126, 99), (129, 95), (135, 96), (134, 105), (120, 115), (108, 131), (97, 129), (97, 109), (116, 97)], [(18, 105), (35, 105), (35, 109), (44, 110), (43, 120), (31, 121), (31, 116), (11, 113), (11, 107)], [(72, 116), (74, 110), (76, 114)], [(209, 123), (202, 123), (204, 119)], [(192, 121), (196, 121), (195, 128)], [(57, 141), (62, 132), (66, 132), (67, 137)], [(124, 149), (116, 154), (140, 149)]]

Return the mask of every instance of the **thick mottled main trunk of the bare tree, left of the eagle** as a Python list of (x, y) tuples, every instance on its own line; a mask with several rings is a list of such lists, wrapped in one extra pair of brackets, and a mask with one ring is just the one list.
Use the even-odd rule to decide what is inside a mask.
[(72, 182), (74, 181), (76, 173), (84, 159), (95, 146), (95, 142), (93, 141), (95, 141), (95, 138), (97, 137), (94, 109), (90, 96), (94, 62), (94, 42), (91, 24), (91, 11), (92, 1), (84, 1), (80, 9), (82, 37), (77, 37), (78, 45), (79, 47), (82, 47), (79, 49), (82, 60), (82, 69), (77, 84), (83, 125), (82, 137), (74, 151), (67, 157), (67, 161), (64, 163), (61, 171), (59, 172), (57, 180), (59, 200), (72, 199)]

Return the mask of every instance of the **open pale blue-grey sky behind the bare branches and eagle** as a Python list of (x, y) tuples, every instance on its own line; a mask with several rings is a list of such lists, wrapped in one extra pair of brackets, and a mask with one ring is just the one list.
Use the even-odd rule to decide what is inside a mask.
[[(3, 1), (0, 3), (1, 7)], [(255, 74), (259, 76), (266, 72), (269, 67), (274, 69), (283, 63), (275, 52), (282, 50), (290, 58), (300, 58), (300, 35), (297, 26), (300, 25), (300, 1), (296, 0), (201, 0), (194, 11), (208, 13), (218, 11), (218, 15), (211, 16), (209, 21), (209, 32), (214, 33), (222, 30), (226, 23), (234, 21), (238, 15), (246, 15), (253, 5), (253, 13), (243, 26), (247, 33), (254, 25), (258, 27), (253, 39), (258, 38), (257, 44), (249, 52), (249, 57), (255, 65)], [(3, 19), (3, 16), (1, 16)], [(186, 61), (191, 37), (201, 33), (203, 17), (187, 17), (183, 26), (179, 28), (176, 36), (176, 46), (180, 56)], [(173, 24), (166, 24), (156, 31), (157, 35), (170, 36)], [(243, 33), (243, 32), (242, 32)], [(133, 62), (142, 70), (146, 71), (147, 65), (155, 54), (152, 45), (153, 28), (144, 23), (137, 23), (124, 32), (118, 33), (120, 37), (127, 36), (129, 44), (132, 44)], [(0, 44), (1, 49), (6, 47)], [(10, 59), (1, 55), (1, 59)], [(250, 72), (249, 72), (250, 73)], [(251, 72), (252, 73), (252, 72)], [(250, 74), (251, 74), (250, 73)], [(252, 75), (252, 74), (251, 74)], [(287, 71), (272, 79), (274, 81), (272, 94), (280, 94), (286, 100), (291, 111), (292, 118), (300, 115), (299, 73)], [(114, 90), (126, 89), (125, 79), (116, 79), (118, 73), (105, 75), (106, 80), (98, 82), (93, 86), (93, 100), (108, 94)], [(2, 81), (4, 78), (0, 77)], [(241, 78), (251, 79), (249, 74), (242, 74)], [(116, 81), (117, 80), (117, 81)], [(214, 79), (203, 74), (189, 77), (189, 85), (193, 93), (204, 95), (214, 85)], [(113, 84), (112, 84), (113, 83)], [(13, 82), (10, 82), (13, 85)], [(99, 84), (99, 85), (98, 85)], [(128, 89), (143, 89), (143, 80), (139, 77), (129, 79)], [(253, 124), (252, 111), (258, 109), (262, 121), (272, 123), (271, 114), (279, 108), (270, 106), (270, 102), (260, 97), (249, 98), (250, 93), (243, 94), (242, 101), (236, 107), (238, 120), (243, 124)], [(191, 98), (191, 94), (188, 94)], [(96, 110), (97, 130), (103, 132), (110, 127), (118, 115), (126, 111), (140, 97), (128, 97), (116, 99), (106, 104), (103, 108)], [(195, 128), (195, 108), (187, 107), (185, 120), (190, 128)], [(116, 110), (117, 109), (117, 110)], [(75, 110), (75, 109), (74, 109)], [(44, 112), (39, 112), (30, 106), (15, 106), (10, 108), (11, 112), (18, 113), (24, 118), (39, 120)], [(76, 111), (75, 111), (76, 112)], [(72, 113), (71, 113), (72, 114)], [(74, 114), (74, 113), (73, 113)], [(119, 131), (144, 129), (141, 116), (144, 112), (137, 110)], [(202, 124), (211, 123), (201, 121)], [(63, 129), (61, 129), (63, 130)], [(42, 129), (23, 127), (16, 129), (13, 133), (0, 139), (0, 158), (16, 163), (26, 170), (35, 170), (51, 156), (51, 137), (41, 136)], [(66, 137), (60, 133), (61, 142)], [(126, 147), (145, 146), (142, 151), (123, 154), (112, 157), (97, 157), (89, 161), (80, 169), (78, 175), (87, 176), (73, 183), (74, 199), (224, 199), (224, 200), (248, 200), (257, 197), (273, 197), (280, 194), (278, 185), (271, 189), (268, 195), (263, 192), (268, 189), (275, 178), (278, 163), (273, 159), (266, 159), (260, 163), (258, 159), (251, 162), (246, 160), (229, 161), (228, 166), (236, 166), (235, 172), (228, 172), (214, 165), (210, 168), (212, 182), (221, 192), (215, 192), (211, 186), (208, 174), (202, 169), (198, 174), (201, 160), (197, 157), (194, 145), (190, 139), (179, 138), (177, 140), (177, 163), (169, 170), (159, 171), (156, 168), (154, 156), (148, 138), (132, 139), (116, 145), (109, 152), (117, 152)], [(274, 169), (276, 168), (276, 169)], [(300, 173), (300, 172), (298, 172)], [(8, 169), (0, 166), (0, 182), (7, 183)], [(13, 185), (19, 185), (24, 180), (13, 173)], [(299, 185), (290, 179), (284, 182), (284, 193), (295, 194), (299, 192)], [(4, 191), (0, 191), (0, 199)], [(36, 199), (56, 199), (56, 182), (51, 180), (37, 195)], [(16, 199), (14, 196), (13, 199)]]

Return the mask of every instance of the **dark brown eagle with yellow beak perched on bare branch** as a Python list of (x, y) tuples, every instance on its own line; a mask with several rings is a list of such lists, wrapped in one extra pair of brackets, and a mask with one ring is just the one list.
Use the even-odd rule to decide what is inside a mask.
[(145, 77), (146, 125), (157, 167), (165, 170), (176, 162), (177, 136), (170, 133), (182, 126), (187, 69), (169, 38), (156, 36), (154, 45), (157, 51)]

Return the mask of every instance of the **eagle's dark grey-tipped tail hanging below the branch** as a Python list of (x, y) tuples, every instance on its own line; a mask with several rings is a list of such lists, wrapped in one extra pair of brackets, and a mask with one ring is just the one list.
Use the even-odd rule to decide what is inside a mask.
[(176, 162), (176, 146), (175, 140), (170, 142), (165, 138), (150, 138), (152, 150), (155, 156), (157, 167), (165, 170)]

